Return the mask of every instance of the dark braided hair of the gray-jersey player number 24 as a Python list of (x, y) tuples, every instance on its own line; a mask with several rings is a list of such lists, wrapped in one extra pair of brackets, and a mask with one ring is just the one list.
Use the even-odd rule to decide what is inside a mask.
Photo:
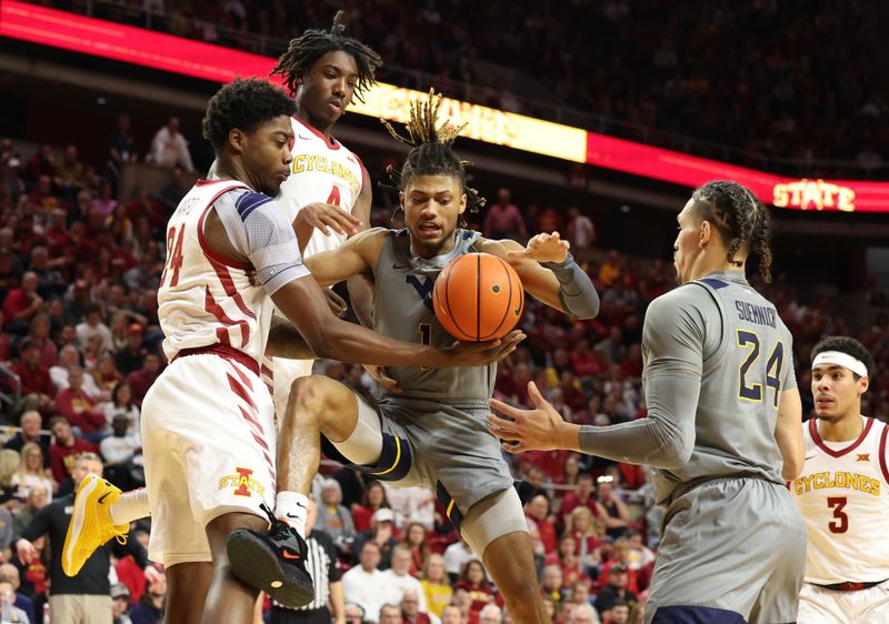
[(769, 212), (749, 189), (729, 180), (716, 180), (695, 190), (695, 210), (713, 224), (726, 243), (726, 260), (740, 266), (735, 254), (746, 249), (759, 258), (759, 274), (771, 281), (771, 229)]

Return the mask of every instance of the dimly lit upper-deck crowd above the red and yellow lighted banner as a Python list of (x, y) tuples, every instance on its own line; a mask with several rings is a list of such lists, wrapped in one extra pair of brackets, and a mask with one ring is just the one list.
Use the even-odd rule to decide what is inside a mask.
[[(269, 56), (307, 28), (329, 28), (343, 8), (339, 0), (50, 4), (140, 26), (144, 13), (121, 8), (144, 7), (151, 28)], [(889, 105), (869, 62), (879, 52), (856, 1), (450, 0), (408, 11), (392, 0), (358, 0), (348, 3), (346, 22), (390, 66), (428, 74), (432, 84), (411, 84), (421, 90), (434, 85), (447, 95), (552, 117), (527, 91), (516, 97), (531, 79), (558, 107), (597, 115), (592, 125), (569, 115), (589, 130), (680, 151), (692, 148), (659, 131), (731, 145), (748, 155), (705, 155), (755, 167), (778, 159), (770, 169), (786, 174), (889, 177), (882, 154)], [(391, 68), (379, 73), (404, 80)]]

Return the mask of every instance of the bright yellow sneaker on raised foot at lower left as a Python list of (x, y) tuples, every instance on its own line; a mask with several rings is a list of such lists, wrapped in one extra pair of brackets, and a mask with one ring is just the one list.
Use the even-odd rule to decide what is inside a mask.
[(127, 543), (129, 524), (111, 524), (111, 505), (120, 499), (120, 489), (101, 476), (87, 475), (80, 482), (74, 496), (74, 511), (64, 536), (62, 570), (74, 576), (96, 550), (117, 537)]

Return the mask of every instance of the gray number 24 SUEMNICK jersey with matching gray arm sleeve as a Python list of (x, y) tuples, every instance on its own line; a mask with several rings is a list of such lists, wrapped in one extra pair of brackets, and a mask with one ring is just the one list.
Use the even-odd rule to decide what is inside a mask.
[(792, 338), (740, 271), (710, 273), (649, 305), (642, 332), (647, 419), (585, 426), (581, 447), (643, 463), (669, 503), (680, 485), (722, 476), (782, 483), (780, 393), (797, 386)]

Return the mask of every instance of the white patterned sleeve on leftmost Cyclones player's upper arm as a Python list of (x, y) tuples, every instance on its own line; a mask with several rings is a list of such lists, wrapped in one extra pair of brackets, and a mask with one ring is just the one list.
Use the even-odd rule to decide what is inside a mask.
[(293, 227), (273, 199), (253, 191), (233, 191), (221, 195), (214, 208), (229, 241), (250, 259), (257, 282), (269, 295), (309, 274)]

